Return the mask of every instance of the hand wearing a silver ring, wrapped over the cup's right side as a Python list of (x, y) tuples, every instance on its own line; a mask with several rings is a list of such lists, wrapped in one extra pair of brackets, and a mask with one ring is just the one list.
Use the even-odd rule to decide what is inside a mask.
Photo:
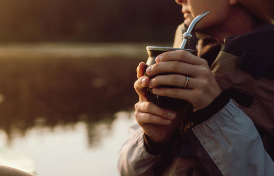
[[(208, 63), (185, 50), (165, 52), (156, 57), (156, 64), (147, 70), (148, 75), (157, 75), (150, 80), (149, 87), (160, 96), (175, 97), (190, 102), (196, 110), (207, 107), (222, 90), (218, 86)], [(189, 84), (186, 88), (187, 76)], [(158, 87), (160, 85), (178, 88)]]

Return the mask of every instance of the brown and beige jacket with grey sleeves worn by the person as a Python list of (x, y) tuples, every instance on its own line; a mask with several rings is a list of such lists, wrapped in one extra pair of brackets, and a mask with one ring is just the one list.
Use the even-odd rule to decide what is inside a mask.
[[(180, 46), (183, 28), (182, 24), (176, 30), (174, 47)], [(259, 51), (252, 49), (253, 45), (256, 47), (258, 44), (249, 40), (254, 40), (265, 32), (274, 36), (273, 32), (269, 32), (272, 28), (273, 26), (266, 26), (253, 31), (254, 34), (227, 39), (211, 70), (221, 89), (230, 90), (232, 99), (239, 101), (240, 108), (230, 101), (209, 120), (191, 128), (190, 141), (195, 159), (175, 157), (170, 165), (165, 166), (163, 175), (273, 175), (274, 140), (271, 139), (274, 136), (274, 83), (267, 75), (265, 77), (259, 72), (261, 76), (258, 78), (249, 70), (238, 66), (239, 61), (245, 59), (244, 53), (269, 52), (267, 47), (263, 47), (266, 44)], [(198, 56), (204, 55), (203, 50), (210, 51), (220, 45), (213, 42), (212, 38), (202, 37), (210, 42), (198, 43)], [(142, 129), (138, 125), (135, 125), (135, 129), (120, 150), (119, 171), (121, 175), (153, 175), (157, 162), (165, 159), (162, 158), (163, 155), (148, 153), (143, 146)]]

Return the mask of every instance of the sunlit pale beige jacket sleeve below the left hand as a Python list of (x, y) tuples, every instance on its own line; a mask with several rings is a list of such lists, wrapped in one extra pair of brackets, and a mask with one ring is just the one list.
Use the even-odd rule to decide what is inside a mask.
[(153, 175), (152, 167), (160, 155), (148, 153), (144, 148), (144, 132), (135, 123), (130, 138), (119, 151), (118, 170), (120, 175)]

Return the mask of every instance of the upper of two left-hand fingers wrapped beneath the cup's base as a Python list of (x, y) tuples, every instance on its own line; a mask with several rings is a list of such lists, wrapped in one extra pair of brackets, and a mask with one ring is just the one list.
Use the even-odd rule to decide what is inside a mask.
[(156, 116), (161, 116), (164, 119), (173, 120), (176, 117), (176, 112), (160, 108), (151, 102), (139, 102), (135, 104), (135, 109), (140, 112), (154, 114)]

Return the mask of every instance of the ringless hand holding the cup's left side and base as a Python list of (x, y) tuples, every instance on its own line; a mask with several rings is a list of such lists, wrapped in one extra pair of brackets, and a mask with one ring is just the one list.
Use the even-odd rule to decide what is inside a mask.
[(163, 109), (149, 102), (147, 87), (150, 79), (143, 76), (145, 63), (137, 67), (138, 80), (134, 88), (139, 95), (139, 102), (135, 104), (135, 119), (145, 134), (154, 142), (167, 142), (172, 133), (181, 126), (182, 119), (179, 112)]

